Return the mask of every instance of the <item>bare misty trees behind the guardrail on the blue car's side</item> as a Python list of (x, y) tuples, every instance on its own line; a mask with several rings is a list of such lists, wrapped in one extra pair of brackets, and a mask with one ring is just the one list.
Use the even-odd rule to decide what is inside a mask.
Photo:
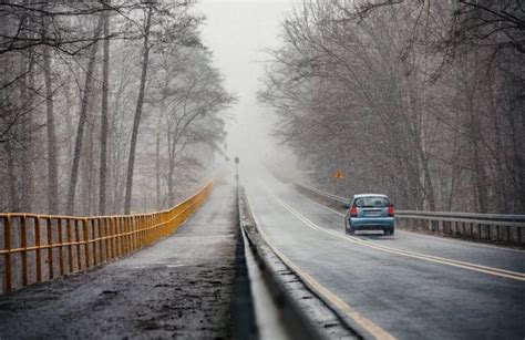
[[(302, 174), (404, 209), (525, 213), (521, 0), (306, 1), (259, 100)], [(337, 187), (336, 187), (337, 188)]]

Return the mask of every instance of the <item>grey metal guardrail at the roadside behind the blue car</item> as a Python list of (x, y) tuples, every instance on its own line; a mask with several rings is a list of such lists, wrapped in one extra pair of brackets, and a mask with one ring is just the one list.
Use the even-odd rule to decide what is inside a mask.
[[(316, 196), (334, 208), (349, 203), (349, 198), (325, 193), (306, 184), (294, 185), (299, 192)], [(395, 224), (412, 230), (525, 244), (525, 215), (395, 210)]]

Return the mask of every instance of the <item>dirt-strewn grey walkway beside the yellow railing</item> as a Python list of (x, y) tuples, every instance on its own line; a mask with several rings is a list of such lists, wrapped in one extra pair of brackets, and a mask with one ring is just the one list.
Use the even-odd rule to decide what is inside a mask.
[(235, 187), (172, 236), (66, 279), (0, 296), (0, 339), (228, 338)]

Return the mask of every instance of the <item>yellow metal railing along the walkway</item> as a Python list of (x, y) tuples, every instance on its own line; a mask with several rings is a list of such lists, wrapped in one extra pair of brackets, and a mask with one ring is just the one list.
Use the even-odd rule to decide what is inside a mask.
[(85, 270), (145, 247), (175, 231), (212, 189), (209, 182), (175, 207), (152, 214), (96, 217), (0, 214), (3, 228), (0, 291)]

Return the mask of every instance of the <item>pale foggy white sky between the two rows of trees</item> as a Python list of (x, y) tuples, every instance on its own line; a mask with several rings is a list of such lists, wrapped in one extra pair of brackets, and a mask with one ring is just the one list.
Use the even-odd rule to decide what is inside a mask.
[(270, 109), (257, 103), (257, 91), (269, 60), (265, 50), (279, 45), (279, 22), (291, 8), (291, 0), (200, 0), (196, 7), (206, 17), (204, 43), (225, 76), (226, 89), (238, 97), (227, 112), (234, 116), (227, 122), (230, 156), (274, 153), (268, 133), (275, 117)]

